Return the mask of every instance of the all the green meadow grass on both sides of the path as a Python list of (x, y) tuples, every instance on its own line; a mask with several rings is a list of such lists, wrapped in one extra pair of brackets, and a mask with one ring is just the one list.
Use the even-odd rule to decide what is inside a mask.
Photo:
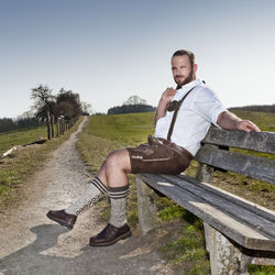
[[(255, 122), (262, 131), (275, 131), (275, 114), (260, 112), (235, 112), (243, 119)], [(15, 206), (24, 186), (51, 153), (76, 131), (80, 120), (64, 136), (14, 151), (0, 160), (0, 211)], [(77, 147), (87, 168), (95, 175), (108, 154), (118, 148), (135, 146), (154, 133), (154, 113), (92, 116), (78, 135)], [(0, 154), (12, 146), (23, 145), (46, 136), (45, 128), (29, 129), (0, 134)], [(274, 156), (272, 156), (274, 157)], [(193, 162), (186, 174), (196, 175), (197, 163)], [(128, 220), (138, 230), (138, 199), (135, 176), (129, 175)], [(250, 199), (270, 209), (275, 209), (275, 187), (233, 173), (215, 172), (212, 184)], [(208, 253), (205, 250), (201, 220), (172, 202), (157, 198), (158, 224), (154, 248), (163, 254), (178, 274), (210, 274)], [(96, 206), (100, 219), (109, 218), (109, 204), (103, 198)], [(274, 267), (250, 266), (250, 274), (275, 274)]]

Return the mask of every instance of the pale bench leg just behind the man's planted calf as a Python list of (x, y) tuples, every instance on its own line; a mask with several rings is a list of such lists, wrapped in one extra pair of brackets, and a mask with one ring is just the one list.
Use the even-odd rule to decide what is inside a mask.
[(156, 226), (156, 209), (154, 190), (136, 177), (139, 221), (142, 234), (147, 233)]

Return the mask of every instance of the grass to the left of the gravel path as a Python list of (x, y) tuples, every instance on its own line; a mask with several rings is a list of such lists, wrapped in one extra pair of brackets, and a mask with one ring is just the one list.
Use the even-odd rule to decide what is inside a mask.
[[(51, 156), (51, 152), (68, 139), (78, 128), (80, 120), (62, 138), (13, 151), (12, 154), (0, 158), (0, 212), (16, 205), (22, 196), (23, 187), (30, 177)], [(46, 128), (19, 130), (0, 134), (0, 155), (13, 146), (24, 145), (41, 138), (46, 138)]]

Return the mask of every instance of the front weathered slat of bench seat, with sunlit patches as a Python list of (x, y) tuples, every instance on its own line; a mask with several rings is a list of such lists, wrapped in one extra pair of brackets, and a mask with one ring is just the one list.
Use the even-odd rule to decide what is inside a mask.
[(223, 213), (201, 197), (191, 194), (189, 186), (184, 189), (160, 175), (142, 174), (139, 177), (244, 248), (275, 251), (275, 240), (270, 240), (252, 228)]

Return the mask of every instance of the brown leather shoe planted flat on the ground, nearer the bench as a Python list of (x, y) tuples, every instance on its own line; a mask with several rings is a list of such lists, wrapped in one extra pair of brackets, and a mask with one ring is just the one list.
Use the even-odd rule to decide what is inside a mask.
[(119, 240), (127, 239), (132, 235), (132, 232), (125, 223), (121, 228), (116, 228), (112, 224), (108, 223), (107, 227), (96, 237), (90, 238), (90, 246), (108, 246)]

